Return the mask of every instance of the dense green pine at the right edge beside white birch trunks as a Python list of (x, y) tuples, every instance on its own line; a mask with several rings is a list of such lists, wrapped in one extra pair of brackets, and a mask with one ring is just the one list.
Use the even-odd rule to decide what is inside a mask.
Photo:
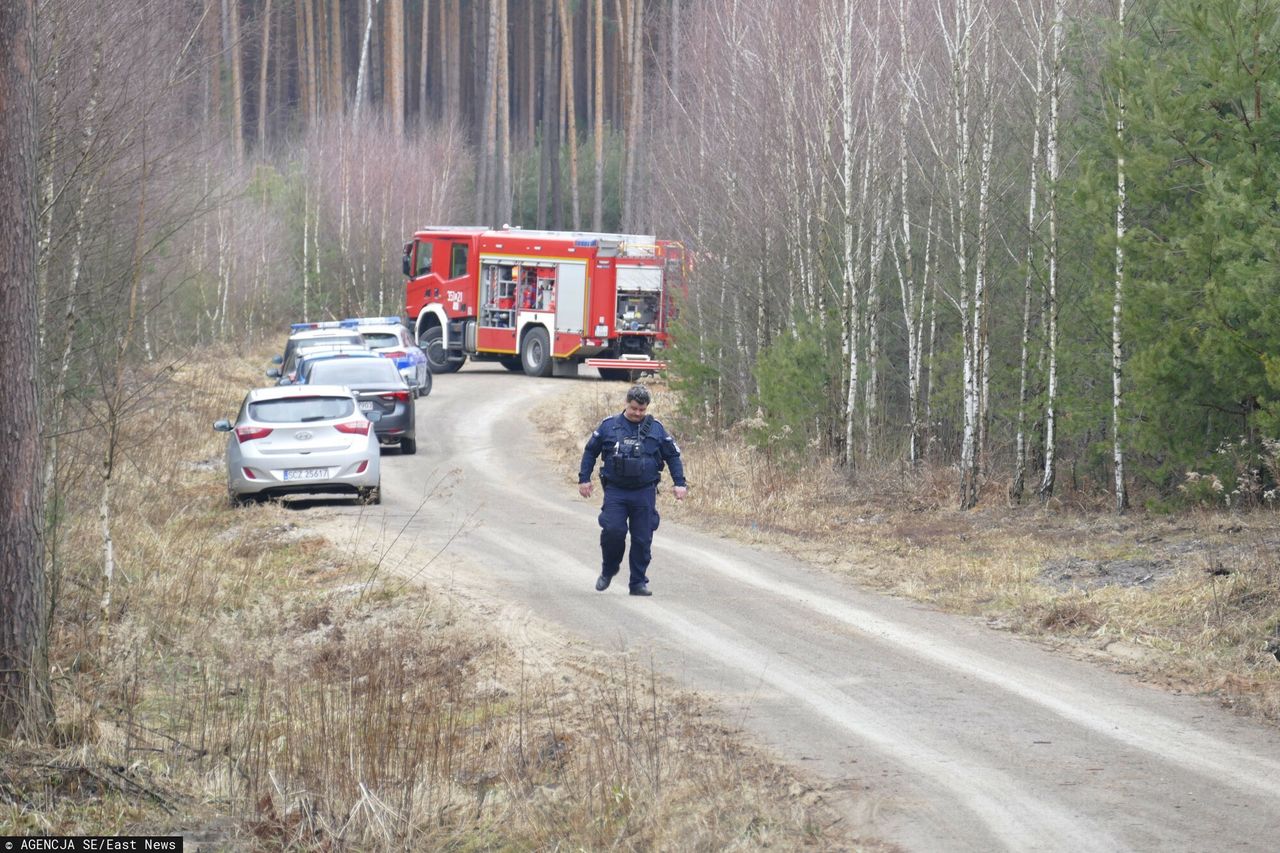
[(1134, 447), (1171, 476), (1280, 426), (1277, 26), (1280, 0), (1174, 0), (1124, 60)]

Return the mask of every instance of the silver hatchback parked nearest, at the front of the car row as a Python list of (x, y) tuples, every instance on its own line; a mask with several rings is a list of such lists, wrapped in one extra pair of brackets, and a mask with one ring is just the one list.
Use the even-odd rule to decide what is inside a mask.
[(356, 494), (381, 501), (381, 456), (374, 424), (340, 386), (285, 386), (248, 392), (227, 437), (227, 493), (248, 503), (294, 493)]

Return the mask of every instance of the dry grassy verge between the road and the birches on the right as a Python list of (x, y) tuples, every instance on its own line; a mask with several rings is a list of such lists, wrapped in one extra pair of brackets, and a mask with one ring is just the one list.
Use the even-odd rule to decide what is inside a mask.
[[(668, 511), (762, 547), (1042, 638), (1170, 689), (1280, 720), (1280, 516), (1192, 511), (1116, 516), (1103, 503), (1010, 507), (989, 483), (982, 507), (954, 508), (955, 473), (796, 466), (740, 437), (690, 438), (673, 398), (654, 414), (682, 439), (692, 488)], [(577, 383), (535, 412), (573, 480), (582, 443), (622, 409), (625, 387)]]

